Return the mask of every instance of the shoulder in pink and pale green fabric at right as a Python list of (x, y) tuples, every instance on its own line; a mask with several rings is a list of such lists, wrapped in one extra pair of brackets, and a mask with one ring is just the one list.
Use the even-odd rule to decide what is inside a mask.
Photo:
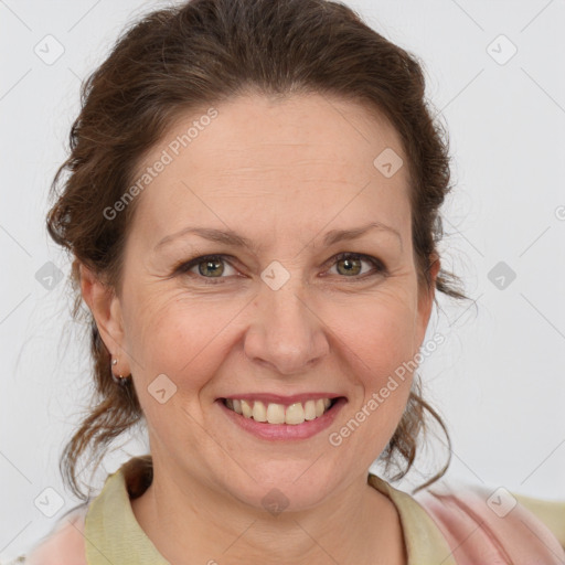
[(489, 551), (489, 555), (510, 563), (565, 559), (565, 501), (531, 499), (503, 487), (447, 478), (417, 492), (414, 499), (436, 522), (456, 558), (483, 557)]

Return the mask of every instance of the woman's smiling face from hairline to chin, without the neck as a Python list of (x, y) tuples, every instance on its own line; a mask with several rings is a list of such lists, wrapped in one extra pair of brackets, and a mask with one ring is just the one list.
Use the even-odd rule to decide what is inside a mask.
[[(395, 130), (334, 98), (241, 97), (186, 115), (143, 172), (119, 297), (97, 321), (132, 373), (156, 472), (257, 508), (276, 487), (289, 510), (366, 479), (433, 300)], [(303, 423), (256, 422), (265, 411)]]

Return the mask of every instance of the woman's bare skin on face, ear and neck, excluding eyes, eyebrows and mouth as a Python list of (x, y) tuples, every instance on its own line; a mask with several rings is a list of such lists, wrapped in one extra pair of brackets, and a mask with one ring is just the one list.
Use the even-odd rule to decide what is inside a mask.
[[(132, 374), (147, 419), (154, 477), (132, 501), (136, 519), (175, 564), (406, 563), (396, 509), (366, 476), (413, 375), (339, 447), (329, 443), (414, 358), (430, 316), (434, 288), (417, 284), (407, 167), (385, 178), (373, 166), (385, 148), (407, 162), (399, 137), (363, 106), (319, 95), (249, 94), (217, 110), (137, 196), (119, 289), (82, 268), (84, 299), (119, 359), (114, 371)], [(200, 115), (183, 116), (140, 170)], [(322, 244), (330, 230), (374, 221), (397, 234)], [(189, 225), (231, 228), (257, 248), (184, 235), (154, 249)], [(375, 257), (386, 271), (362, 259), (361, 273), (343, 274), (332, 259), (341, 252)], [(231, 256), (220, 284), (205, 263), (204, 275), (198, 265), (173, 274), (205, 254)], [(290, 276), (278, 290), (260, 278), (273, 260)], [(438, 269), (436, 260), (434, 281)], [(159, 374), (177, 386), (164, 404), (148, 392)], [(311, 391), (348, 403), (329, 429), (300, 441), (258, 439), (215, 402)], [(278, 515), (262, 503), (275, 487), (288, 500)]]

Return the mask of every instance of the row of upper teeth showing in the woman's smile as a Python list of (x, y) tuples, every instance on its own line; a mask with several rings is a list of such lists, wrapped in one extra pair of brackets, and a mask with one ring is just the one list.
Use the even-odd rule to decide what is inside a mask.
[(269, 424), (302, 424), (320, 417), (331, 405), (329, 398), (318, 398), (317, 401), (306, 401), (303, 404), (296, 402), (290, 406), (284, 404), (265, 404), (262, 401), (238, 401), (226, 398), (225, 405), (243, 414), (246, 418), (253, 418), (256, 422), (268, 422)]

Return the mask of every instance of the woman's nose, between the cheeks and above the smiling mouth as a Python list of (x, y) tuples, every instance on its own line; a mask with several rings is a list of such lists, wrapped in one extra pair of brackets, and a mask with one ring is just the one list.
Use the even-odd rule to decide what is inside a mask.
[(253, 302), (244, 351), (255, 363), (280, 375), (311, 371), (330, 350), (323, 321), (296, 285), (263, 286)]

